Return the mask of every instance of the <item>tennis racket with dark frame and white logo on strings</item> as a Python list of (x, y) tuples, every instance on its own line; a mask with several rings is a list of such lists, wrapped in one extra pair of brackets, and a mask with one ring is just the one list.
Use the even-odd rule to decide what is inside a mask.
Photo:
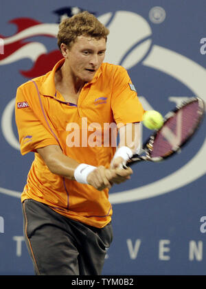
[(176, 106), (164, 117), (163, 126), (144, 143), (143, 154), (133, 154), (126, 166), (138, 161), (163, 161), (176, 152), (181, 152), (203, 120), (205, 104), (199, 97), (192, 97)]

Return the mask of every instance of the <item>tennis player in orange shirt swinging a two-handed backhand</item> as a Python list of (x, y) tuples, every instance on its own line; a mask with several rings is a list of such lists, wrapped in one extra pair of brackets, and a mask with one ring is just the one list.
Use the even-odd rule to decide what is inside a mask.
[(133, 173), (121, 165), (139, 148), (144, 109), (127, 71), (103, 62), (108, 33), (89, 12), (65, 19), (62, 60), (17, 89), (21, 154), (35, 156), (21, 202), (36, 275), (101, 275), (108, 190)]

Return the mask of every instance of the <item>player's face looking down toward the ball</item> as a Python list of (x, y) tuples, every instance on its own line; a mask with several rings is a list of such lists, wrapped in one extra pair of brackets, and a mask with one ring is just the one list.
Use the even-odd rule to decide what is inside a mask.
[(90, 82), (102, 65), (106, 51), (105, 38), (78, 36), (67, 50), (69, 70), (74, 78)]

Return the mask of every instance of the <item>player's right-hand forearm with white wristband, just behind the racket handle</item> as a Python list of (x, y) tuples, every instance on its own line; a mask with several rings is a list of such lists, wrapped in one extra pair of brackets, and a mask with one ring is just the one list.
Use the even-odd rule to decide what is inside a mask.
[(111, 168), (121, 167), (141, 148), (140, 123), (130, 123), (119, 128), (119, 146), (111, 161)]

